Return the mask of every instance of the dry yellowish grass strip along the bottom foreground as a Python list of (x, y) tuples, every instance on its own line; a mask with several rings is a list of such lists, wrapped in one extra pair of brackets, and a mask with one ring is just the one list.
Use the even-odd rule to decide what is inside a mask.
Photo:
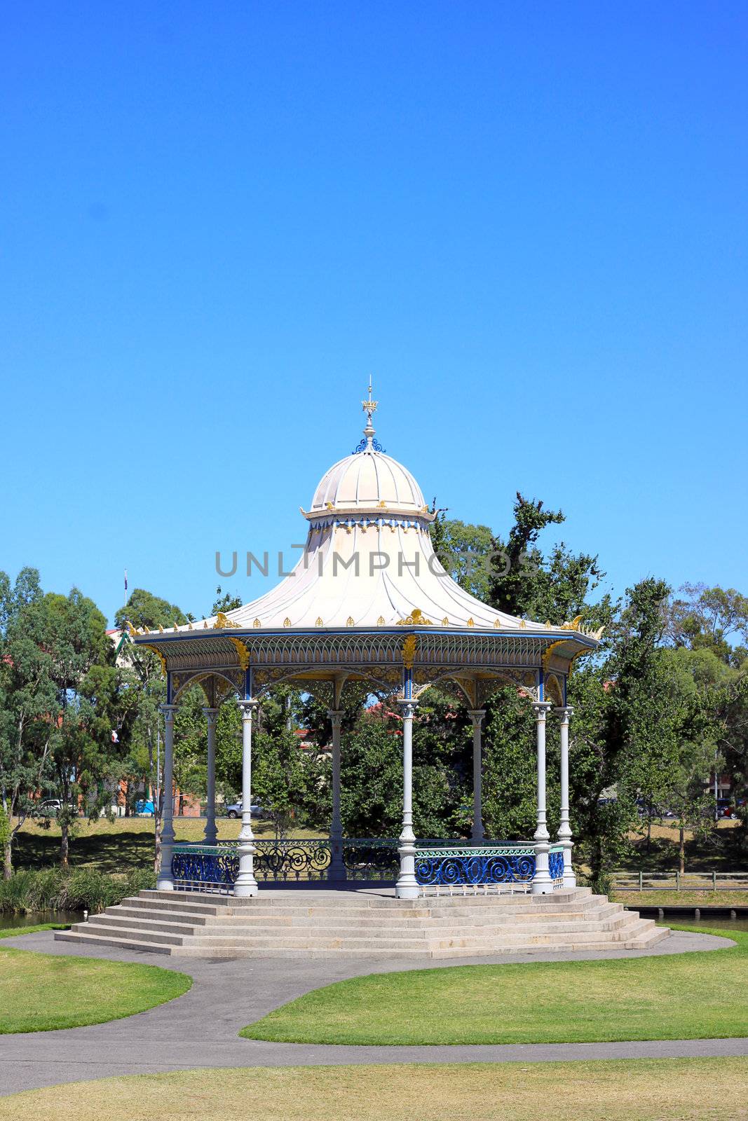
[(177, 1071), (0, 1099), (0, 1121), (738, 1121), (748, 1059)]

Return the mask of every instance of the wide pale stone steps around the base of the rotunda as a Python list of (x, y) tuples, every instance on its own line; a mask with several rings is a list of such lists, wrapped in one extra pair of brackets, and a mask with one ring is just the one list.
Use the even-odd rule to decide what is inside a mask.
[(414, 900), (292, 888), (252, 899), (141, 891), (55, 938), (191, 957), (407, 958), (646, 949), (668, 933), (589, 888)]

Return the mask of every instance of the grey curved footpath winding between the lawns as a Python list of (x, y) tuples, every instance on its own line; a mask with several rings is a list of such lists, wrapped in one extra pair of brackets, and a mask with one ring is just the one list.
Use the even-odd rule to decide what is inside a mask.
[[(3, 939), (3, 946), (74, 957), (105, 957), (165, 966), (159, 954), (55, 942), (50, 930)], [(460, 965), (514, 962), (583, 961), (645, 957), (720, 949), (729, 938), (675, 933), (648, 951), (565, 954), (512, 954), (511, 957), (461, 958)], [(548, 1059), (677, 1058), (748, 1055), (748, 1039), (650, 1040), (609, 1044), (507, 1044), (425, 1047), (359, 1047), (329, 1044), (275, 1044), (241, 1039), (238, 1032), (286, 1001), (333, 981), (368, 973), (447, 969), (454, 961), (372, 963), (367, 958), (238, 958), (169, 961), (193, 978), (184, 997), (123, 1020), (0, 1036), (0, 1094), (109, 1075), (155, 1074), (195, 1067), (326, 1066), (362, 1063), (511, 1063)]]

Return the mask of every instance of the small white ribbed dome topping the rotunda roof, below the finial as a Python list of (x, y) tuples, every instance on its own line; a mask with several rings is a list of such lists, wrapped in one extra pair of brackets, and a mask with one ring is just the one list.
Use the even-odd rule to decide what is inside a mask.
[(325, 510), (381, 508), (421, 513), (425, 501), (418, 483), (401, 463), (384, 452), (367, 448), (347, 455), (322, 476), (310, 513)]

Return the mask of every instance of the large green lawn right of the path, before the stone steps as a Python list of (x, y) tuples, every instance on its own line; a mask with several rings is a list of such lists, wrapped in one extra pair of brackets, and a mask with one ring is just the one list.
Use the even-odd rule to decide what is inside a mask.
[(240, 1035), (398, 1045), (748, 1036), (748, 934), (731, 937), (735, 947), (687, 954), (353, 978), (283, 1004)]

